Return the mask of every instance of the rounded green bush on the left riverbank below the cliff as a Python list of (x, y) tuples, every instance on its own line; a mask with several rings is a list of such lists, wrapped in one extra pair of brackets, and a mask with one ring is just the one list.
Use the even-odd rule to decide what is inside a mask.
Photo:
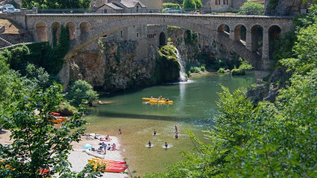
[(93, 90), (93, 87), (86, 81), (77, 80), (70, 84), (67, 98), (74, 106), (79, 106), (83, 100), (86, 100), (89, 106), (98, 100), (99, 94)]

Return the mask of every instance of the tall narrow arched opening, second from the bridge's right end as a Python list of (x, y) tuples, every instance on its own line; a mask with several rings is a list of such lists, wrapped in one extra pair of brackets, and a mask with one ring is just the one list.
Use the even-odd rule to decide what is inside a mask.
[(262, 56), (263, 27), (260, 25), (255, 25), (251, 28), (251, 50)]

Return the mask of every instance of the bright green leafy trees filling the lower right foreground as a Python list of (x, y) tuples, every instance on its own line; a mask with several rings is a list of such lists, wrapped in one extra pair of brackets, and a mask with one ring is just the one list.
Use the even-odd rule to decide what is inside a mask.
[(259, 98), (255, 106), (246, 89), (230, 92), (222, 87), (219, 115), (213, 119), (214, 128), (205, 132), (212, 144), (189, 132), (196, 152), (183, 153), (185, 159), (166, 172), (144, 177), (317, 177), (317, 23), (312, 16), (316, 7), (301, 19), (301, 24), (311, 25), (296, 28), (293, 58), (279, 60), (279, 67), (293, 74), (290, 86), (279, 89), (274, 103)]

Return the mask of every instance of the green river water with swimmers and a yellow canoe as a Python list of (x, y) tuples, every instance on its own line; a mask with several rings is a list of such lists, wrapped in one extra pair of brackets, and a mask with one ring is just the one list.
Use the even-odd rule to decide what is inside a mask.
[[(172, 164), (180, 159), (181, 151), (190, 151), (194, 145), (186, 135), (192, 130), (204, 139), (202, 131), (212, 128), (212, 119), (217, 113), (220, 84), (231, 91), (254, 83), (254, 73), (233, 77), (230, 74), (209, 73), (195, 76), (187, 83), (175, 83), (133, 89), (114, 96), (101, 97), (113, 104), (96, 105), (85, 117), (90, 123), (88, 133), (110, 134), (119, 138), (121, 154), (127, 158), (136, 175), (164, 171), (163, 163)], [(142, 97), (168, 96), (173, 104), (150, 104)], [(180, 137), (175, 139), (174, 125), (178, 126)], [(118, 134), (118, 126), (122, 134)], [(153, 135), (153, 130), (157, 135)], [(152, 148), (147, 148), (151, 140)], [(167, 142), (170, 146), (164, 149)]]

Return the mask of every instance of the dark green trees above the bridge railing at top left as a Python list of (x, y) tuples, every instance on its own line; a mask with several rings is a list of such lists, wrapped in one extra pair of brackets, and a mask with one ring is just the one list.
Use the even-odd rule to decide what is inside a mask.
[(39, 8), (89, 8), (91, 0), (21, 0), (27, 9)]

